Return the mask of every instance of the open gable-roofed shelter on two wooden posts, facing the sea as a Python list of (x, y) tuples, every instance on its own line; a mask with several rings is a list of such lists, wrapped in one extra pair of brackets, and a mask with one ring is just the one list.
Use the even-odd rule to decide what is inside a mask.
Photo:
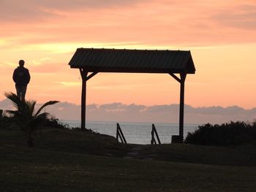
[[(184, 137), (184, 85), (195, 74), (190, 51), (78, 48), (69, 61), (82, 77), (81, 129), (86, 128), (86, 82), (99, 72), (170, 74), (180, 83), (179, 139)], [(89, 74), (91, 73), (91, 74)], [(180, 77), (176, 76), (180, 74)]]

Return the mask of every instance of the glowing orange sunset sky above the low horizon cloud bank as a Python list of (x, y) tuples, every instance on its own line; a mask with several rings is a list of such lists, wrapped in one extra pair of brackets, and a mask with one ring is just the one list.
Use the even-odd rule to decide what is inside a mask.
[[(185, 102), (194, 107), (256, 107), (256, 1), (0, 1), (0, 100), (15, 91), (20, 59), (31, 73), (28, 99), (80, 103), (77, 47), (191, 50)], [(88, 104), (176, 104), (167, 74), (97, 74)]]

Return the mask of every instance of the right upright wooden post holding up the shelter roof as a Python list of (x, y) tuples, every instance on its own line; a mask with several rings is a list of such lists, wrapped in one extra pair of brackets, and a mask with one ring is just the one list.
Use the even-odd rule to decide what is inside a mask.
[(181, 139), (181, 142), (183, 142), (184, 139), (184, 91), (186, 76), (186, 73), (181, 73), (181, 93), (179, 104), (179, 137)]

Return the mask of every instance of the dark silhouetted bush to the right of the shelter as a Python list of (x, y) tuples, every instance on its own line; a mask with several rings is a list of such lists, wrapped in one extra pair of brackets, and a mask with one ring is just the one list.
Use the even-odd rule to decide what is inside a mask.
[(194, 145), (243, 145), (256, 142), (256, 121), (245, 123), (243, 121), (211, 125), (207, 123), (198, 126), (193, 133), (188, 133), (186, 143)]

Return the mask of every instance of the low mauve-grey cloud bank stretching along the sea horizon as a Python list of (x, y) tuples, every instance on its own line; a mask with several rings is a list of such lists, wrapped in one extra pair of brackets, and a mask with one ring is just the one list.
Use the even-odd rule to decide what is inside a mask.
[[(37, 106), (40, 106), (38, 104)], [(8, 99), (0, 101), (1, 110), (10, 110), (12, 107)], [(47, 107), (56, 118), (61, 120), (80, 120), (80, 105), (69, 102), (60, 102)], [(148, 122), (148, 123), (178, 123), (179, 105), (153, 105), (122, 104), (89, 104), (86, 108), (87, 120), (116, 121), (116, 122)], [(256, 107), (244, 110), (238, 106), (232, 107), (191, 107), (185, 105), (185, 123), (227, 123), (230, 120), (256, 120)]]

